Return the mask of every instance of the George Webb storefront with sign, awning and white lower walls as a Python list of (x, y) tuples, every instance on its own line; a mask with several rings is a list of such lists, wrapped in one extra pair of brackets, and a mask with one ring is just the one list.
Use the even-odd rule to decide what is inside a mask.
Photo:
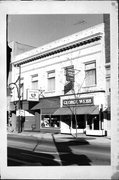
[(54, 115), (61, 119), (61, 133), (85, 133), (86, 135), (105, 135), (103, 112), (94, 104), (94, 97), (62, 99)]

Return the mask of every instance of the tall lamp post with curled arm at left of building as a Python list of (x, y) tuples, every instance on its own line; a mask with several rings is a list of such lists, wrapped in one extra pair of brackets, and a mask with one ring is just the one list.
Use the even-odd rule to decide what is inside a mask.
[[(18, 106), (17, 106), (17, 110), (18, 110), (18, 117), (16, 119), (17, 121), (17, 131), (18, 133), (21, 133), (21, 103), (20, 103), (20, 99), (21, 99), (21, 91), (20, 91), (20, 85), (21, 85), (21, 66), (19, 65), (19, 76), (17, 78), (17, 80), (14, 83), (10, 83), (9, 87), (11, 90), (14, 89), (14, 87), (11, 88), (11, 86), (15, 86), (17, 89), (17, 96), (18, 96)], [(17, 82), (18, 85), (17, 85)]]

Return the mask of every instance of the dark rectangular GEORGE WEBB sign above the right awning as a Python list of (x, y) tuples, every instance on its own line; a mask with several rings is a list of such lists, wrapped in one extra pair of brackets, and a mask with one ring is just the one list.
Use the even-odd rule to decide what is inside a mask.
[(63, 106), (77, 106), (77, 105), (93, 104), (93, 97), (79, 98), (79, 99), (64, 99)]

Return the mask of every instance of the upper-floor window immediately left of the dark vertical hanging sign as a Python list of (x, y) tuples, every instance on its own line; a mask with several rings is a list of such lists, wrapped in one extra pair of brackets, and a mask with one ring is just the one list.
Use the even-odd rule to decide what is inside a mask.
[(55, 71), (48, 72), (48, 91), (55, 90)]

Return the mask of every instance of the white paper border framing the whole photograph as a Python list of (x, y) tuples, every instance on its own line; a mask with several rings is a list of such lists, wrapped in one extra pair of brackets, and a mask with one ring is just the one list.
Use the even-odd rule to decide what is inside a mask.
[[(113, 5), (112, 5), (113, 4)], [(116, 1), (2, 1), (0, 2), (0, 165), (2, 179), (110, 179), (117, 166), (118, 37)], [(68, 167), (7, 167), (6, 136), (6, 14), (99, 14), (111, 15), (112, 165)], [(2, 53), (1, 53), (2, 52)], [(115, 130), (116, 129), (116, 130)], [(114, 145), (114, 146), (113, 146)], [(116, 146), (115, 146), (116, 145)]]

